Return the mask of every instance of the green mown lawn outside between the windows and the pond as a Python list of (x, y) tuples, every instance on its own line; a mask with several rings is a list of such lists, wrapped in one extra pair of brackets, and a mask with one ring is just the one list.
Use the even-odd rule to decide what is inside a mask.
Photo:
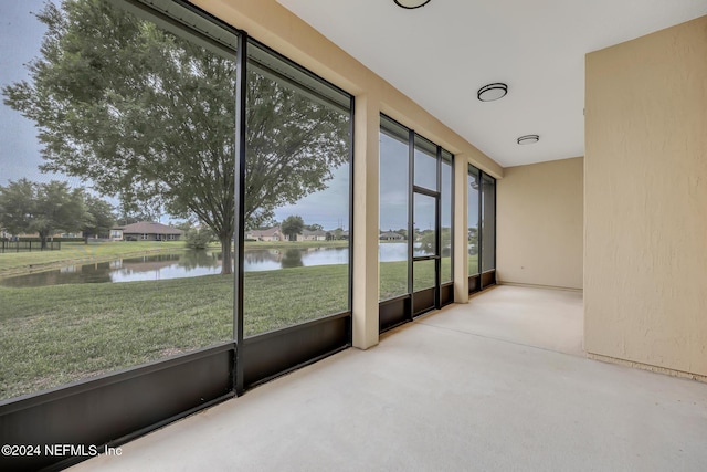
[[(449, 262), (443, 260), (443, 271)], [(431, 265), (415, 265), (415, 287), (433, 280)], [(380, 264), (381, 300), (408, 292), (407, 273), (405, 261)], [(348, 286), (347, 265), (249, 272), (245, 335), (344, 312)], [(0, 399), (230, 340), (232, 304), (233, 276), (222, 275), (0, 286)]]

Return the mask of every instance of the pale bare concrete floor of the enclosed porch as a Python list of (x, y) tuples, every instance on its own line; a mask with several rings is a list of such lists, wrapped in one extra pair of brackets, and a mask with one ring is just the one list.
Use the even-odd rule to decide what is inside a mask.
[(707, 385), (581, 335), (581, 294), (499, 286), (72, 470), (707, 470)]

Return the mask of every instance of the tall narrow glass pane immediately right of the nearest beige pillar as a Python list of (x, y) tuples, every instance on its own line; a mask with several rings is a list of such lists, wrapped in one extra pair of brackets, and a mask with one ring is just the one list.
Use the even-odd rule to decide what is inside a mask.
[(381, 117), (380, 134), (380, 269), (379, 300), (409, 293), (408, 214), (409, 146), (408, 130)]

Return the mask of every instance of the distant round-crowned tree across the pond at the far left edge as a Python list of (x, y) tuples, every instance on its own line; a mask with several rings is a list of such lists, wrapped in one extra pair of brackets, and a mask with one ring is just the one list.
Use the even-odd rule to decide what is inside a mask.
[(91, 219), (82, 189), (52, 180), (35, 183), (27, 179), (0, 187), (0, 221), (12, 234), (38, 233), (42, 249), (46, 239), (64, 230), (78, 231)]

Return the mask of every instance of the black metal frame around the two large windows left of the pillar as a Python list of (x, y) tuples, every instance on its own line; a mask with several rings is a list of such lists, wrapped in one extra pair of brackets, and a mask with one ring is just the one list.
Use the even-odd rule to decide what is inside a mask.
[[(106, 0), (107, 1), (107, 0)], [(187, 415), (208, 408), (220, 401), (242, 395), (243, 391), (261, 381), (299, 368), (325, 356), (345, 349), (351, 345), (351, 302), (354, 268), (354, 123), (355, 97), (313, 74), (305, 67), (276, 54), (277, 59), (307, 76), (319, 81), (334, 91), (341, 92), (348, 97), (349, 112), (349, 281), (348, 311), (336, 313), (314, 321), (303, 322), (283, 329), (274, 331), (264, 336), (244, 338), (243, 332), (243, 252), (244, 252), (244, 178), (245, 178), (245, 101), (247, 72), (247, 43), (252, 40), (245, 31), (226, 25), (222, 21), (203, 10), (182, 0), (175, 0), (170, 6), (183, 7), (190, 12), (218, 24), (236, 38), (236, 48), (229, 48), (208, 32), (194, 31), (190, 25), (182, 24), (177, 18), (149, 7), (150, 0), (122, 0), (120, 6), (133, 13), (137, 13), (147, 21), (168, 25), (168, 31), (184, 32), (200, 44), (208, 44), (220, 54), (228, 54), (236, 62), (236, 96), (235, 96), (235, 248), (233, 252), (236, 270), (233, 283), (233, 339), (215, 346), (198, 349), (184, 355), (158, 359), (148, 364), (131, 366), (127, 369), (112, 371), (92, 379), (62, 385), (49, 390), (38, 391), (22, 397), (0, 400), (0, 442), (2, 443), (33, 443), (51, 444), (107, 444), (118, 445), (155, 429), (172, 422)], [(157, 21), (156, 21), (157, 20)], [(260, 43), (258, 43), (260, 44)], [(309, 94), (316, 91), (308, 90)], [(325, 97), (326, 98), (326, 97)], [(326, 102), (326, 101), (325, 101)], [(257, 352), (258, 343), (265, 344), (273, 339), (287, 338), (283, 346), (295, 346), (299, 355), (294, 364), (282, 364), (277, 359), (278, 370), (267, 370), (267, 375), (256, 374), (246, 380), (247, 352)], [(302, 346), (303, 343), (310, 343)], [(270, 346), (268, 346), (270, 347)], [(244, 355), (244, 353), (246, 353)], [(287, 353), (285, 353), (287, 354)], [(119, 418), (118, 418), (119, 417)], [(52, 424), (46, 418), (55, 418)], [(76, 422), (75, 418), (85, 421)], [(21, 437), (20, 437), (21, 434)], [(81, 462), (87, 457), (75, 458), (34, 458), (21, 464), (11, 463), (10, 469), (46, 469), (57, 470)], [(0, 469), (6, 465), (8, 458), (0, 458)]]

